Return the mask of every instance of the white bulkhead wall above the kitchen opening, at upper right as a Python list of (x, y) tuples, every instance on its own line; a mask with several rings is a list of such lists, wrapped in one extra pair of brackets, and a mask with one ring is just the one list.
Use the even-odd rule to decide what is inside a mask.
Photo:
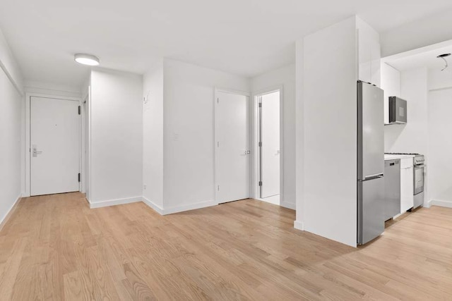
[(391, 56), (452, 39), (451, 15), (452, 10), (441, 11), (381, 33), (381, 55)]

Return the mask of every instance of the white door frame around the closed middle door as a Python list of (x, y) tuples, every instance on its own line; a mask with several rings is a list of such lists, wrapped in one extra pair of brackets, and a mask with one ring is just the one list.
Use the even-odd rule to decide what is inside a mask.
[(218, 164), (219, 164), (219, 156), (218, 156), (218, 146), (217, 146), (217, 142), (218, 142), (218, 108), (217, 108), (217, 104), (218, 104), (218, 92), (223, 92), (223, 93), (230, 93), (230, 94), (237, 94), (237, 95), (242, 95), (242, 96), (246, 96), (248, 97), (247, 99), (247, 105), (248, 105), (248, 137), (249, 137), (249, 147), (251, 150), (251, 157), (249, 159), (249, 197), (252, 197), (253, 195), (253, 191), (252, 191), (252, 161), (253, 161), (253, 145), (252, 145), (252, 135), (253, 135), (253, 130), (252, 130), (252, 113), (251, 113), (251, 93), (250, 92), (246, 92), (246, 91), (240, 91), (240, 90), (232, 90), (232, 89), (222, 89), (222, 88), (218, 88), (215, 87), (214, 88), (215, 92), (214, 92), (214, 98), (213, 98), (213, 123), (214, 123), (214, 133), (213, 133), (213, 157), (214, 157), (214, 161), (215, 164), (213, 165), (213, 178), (214, 178), (214, 186), (213, 186), (213, 193), (215, 196), (215, 203), (216, 204), (220, 204), (220, 202), (218, 201)]

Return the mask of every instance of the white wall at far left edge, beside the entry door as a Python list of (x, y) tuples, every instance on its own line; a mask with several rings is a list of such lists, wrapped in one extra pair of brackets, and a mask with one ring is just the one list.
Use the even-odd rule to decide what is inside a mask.
[(0, 223), (22, 193), (23, 109), (22, 78), (0, 32)]

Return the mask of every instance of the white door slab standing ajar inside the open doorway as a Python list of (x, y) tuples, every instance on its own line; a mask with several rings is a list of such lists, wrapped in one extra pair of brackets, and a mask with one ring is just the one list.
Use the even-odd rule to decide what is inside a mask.
[(261, 198), (280, 194), (280, 92), (260, 99)]

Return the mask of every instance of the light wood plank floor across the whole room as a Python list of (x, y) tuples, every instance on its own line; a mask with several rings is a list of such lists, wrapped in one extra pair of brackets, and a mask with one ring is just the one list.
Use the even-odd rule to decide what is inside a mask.
[(22, 199), (0, 232), (0, 300), (452, 300), (452, 209), (388, 224), (354, 249), (255, 200), (160, 216)]

